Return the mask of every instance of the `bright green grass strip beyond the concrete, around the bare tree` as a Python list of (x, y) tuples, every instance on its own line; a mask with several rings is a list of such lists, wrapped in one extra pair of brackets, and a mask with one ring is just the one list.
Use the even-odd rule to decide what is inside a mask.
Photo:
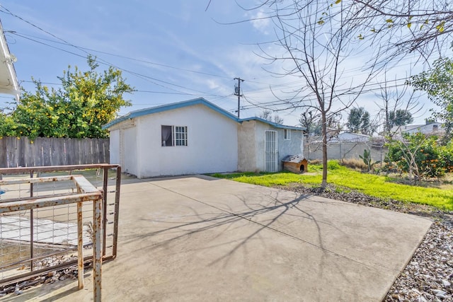
[[(321, 165), (309, 165), (308, 173), (301, 175), (282, 172), (214, 174), (212, 176), (266, 187), (294, 183), (319, 186), (322, 180), (321, 172)], [(386, 176), (351, 170), (339, 165), (336, 161), (328, 163), (327, 182), (338, 186), (339, 190), (357, 190), (372, 197), (428, 204), (442, 211), (453, 211), (453, 190), (403, 185), (395, 183)]]

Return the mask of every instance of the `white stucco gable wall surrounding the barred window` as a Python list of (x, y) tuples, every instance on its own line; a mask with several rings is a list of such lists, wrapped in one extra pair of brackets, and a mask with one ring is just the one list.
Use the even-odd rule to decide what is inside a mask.
[[(237, 122), (193, 105), (137, 117), (139, 178), (236, 171)], [(188, 127), (188, 146), (161, 146), (161, 125)]]

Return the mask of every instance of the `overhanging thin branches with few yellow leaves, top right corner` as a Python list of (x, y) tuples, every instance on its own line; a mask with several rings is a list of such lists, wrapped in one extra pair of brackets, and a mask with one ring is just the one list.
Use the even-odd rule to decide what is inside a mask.
[[(387, 58), (419, 52), (428, 59), (442, 53), (453, 33), (453, 2), (445, 0), (351, 0), (367, 11), (362, 35), (387, 40)], [(448, 43), (445, 44), (445, 43)]]

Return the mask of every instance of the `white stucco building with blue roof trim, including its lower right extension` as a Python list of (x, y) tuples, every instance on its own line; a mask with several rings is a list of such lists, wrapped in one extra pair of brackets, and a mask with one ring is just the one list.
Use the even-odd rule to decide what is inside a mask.
[(132, 111), (103, 128), (110, 130), (110, 163), (138, 178), (274, 172), (303, 150), (302, 128), (238, 119), (204, 98)]

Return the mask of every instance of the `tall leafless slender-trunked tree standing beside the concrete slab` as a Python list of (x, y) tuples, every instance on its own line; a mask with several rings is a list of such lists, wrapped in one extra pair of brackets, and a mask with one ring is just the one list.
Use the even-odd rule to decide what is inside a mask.
[[(353, 69), (348, 59), (363, 47), (361, 25), (356, 21), (363, 12), (355, 6), (330, 4), (331, 1), (265, 1), (275, 24), (276, 44), (283, 52), (270, 54), (260, 45), (263, 57), (281, 63), (280, 71), (271, 71), (273, 74), (300, 79), (299, 88), (291, 91), (289, 98), (278, 98), (279, 110), (303, 107), (319, 113), (323, 136), (322, 187), (327, 184), (328, 121), (355, 102), (377, 70), (371, 60), (360, 79), (343, 79)], [(326, 9), (329, 7), (330, 11)], [(356, 67), (355, 72), (360, 73), (360, 69)]]

